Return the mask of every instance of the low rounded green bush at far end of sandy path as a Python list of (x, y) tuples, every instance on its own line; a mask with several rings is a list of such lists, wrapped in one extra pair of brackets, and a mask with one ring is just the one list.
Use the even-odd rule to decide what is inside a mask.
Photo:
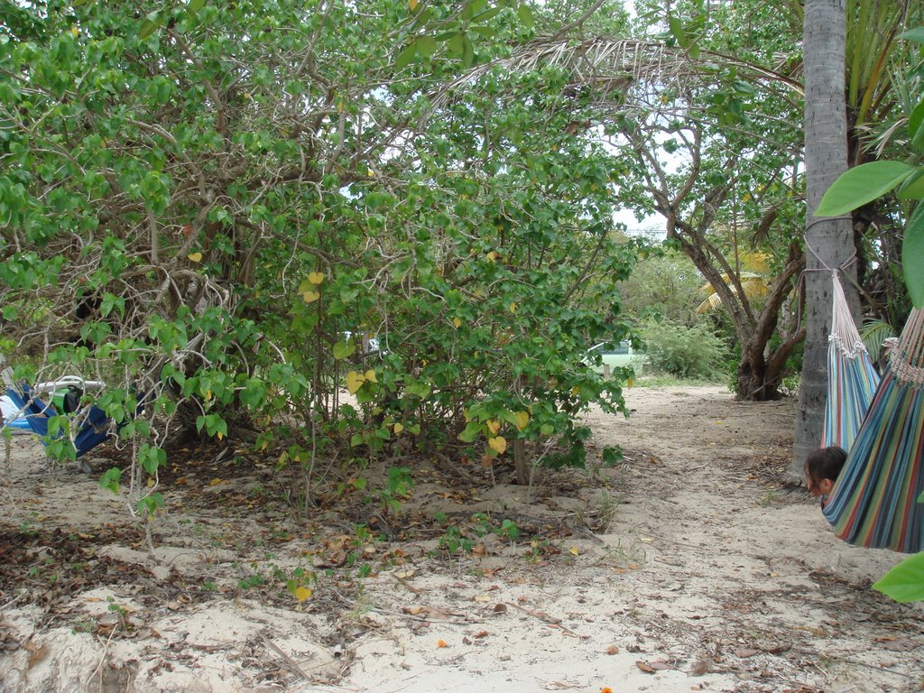
[(722, 370), (725, 347), (704, 325), (649, 322), (641, 333), (652, 371), (679, 378), (710, 378)]

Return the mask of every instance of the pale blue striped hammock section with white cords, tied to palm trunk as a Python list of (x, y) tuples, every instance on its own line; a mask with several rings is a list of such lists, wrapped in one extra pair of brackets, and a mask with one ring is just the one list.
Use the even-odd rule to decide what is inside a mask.
[(821, 447), (838, 445), (849, 450), (879, 385), (879, 373), (857, 332), (836, 272), (833, 273), (832, 302), (834, 310), (828, 337), (828, 404), (824, 411)]

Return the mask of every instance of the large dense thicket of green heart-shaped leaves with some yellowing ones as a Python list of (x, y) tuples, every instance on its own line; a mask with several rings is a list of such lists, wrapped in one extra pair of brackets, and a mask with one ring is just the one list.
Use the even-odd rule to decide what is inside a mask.
[[(39, 355), (34, 377), (102, 377), (95, 403), (140, 451), (131, 488), (156, 483), (171, 423), (258, 429), (308, 505), (319, 460), (347, 448), (552, 440), (547, 459), (579, 464), (579, 413), (623, 407), (621, 383), (580, 362), (627, 333), (616, 283), (638, 249), (611, 237), (612, 152), (569, 132), (590, 97), (539, 68), (433, 99), (531, 37), (529, 6), (16, 15), (0, 41), (2, 344)], [(460, 441), (467, 411), (485, 432)], [(142, 512), (163, 505), (139, 493)]]

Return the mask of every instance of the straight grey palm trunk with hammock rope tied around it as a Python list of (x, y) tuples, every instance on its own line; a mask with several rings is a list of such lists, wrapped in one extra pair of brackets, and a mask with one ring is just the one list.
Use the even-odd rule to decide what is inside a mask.
[[(824, 191), (847, 169), (844, 0), (806, 0), (802, 44), (806, 75), (807, 322), (793, 462), (786, 475), (794, 482), (801, 482), (805, 458), (818, 447), (824, 426), (827, 337), (832, 314), (830, 270), (843, 268), (854, 255), (849, 217), (814, 216)], [(851, 264), (842, 277), (847, 300), (855, 309), (856, 274), (856, 266)]]

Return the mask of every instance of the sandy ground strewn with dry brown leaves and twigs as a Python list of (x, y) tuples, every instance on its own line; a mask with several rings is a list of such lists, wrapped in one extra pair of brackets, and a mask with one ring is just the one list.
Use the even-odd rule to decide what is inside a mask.
[(356, 517), (294, 522), (272, 467), (178, 477), (154, 556), (122, 500), (17, 436), (0, 693), (924, 690), (924, 609), (869, 589), (903, 556), (838, 541), (780, 481), (793, 402), (626, 402), (631, 419), (589, 416), (617, 468), (531, 490), (421, 469), (384, 541)]

